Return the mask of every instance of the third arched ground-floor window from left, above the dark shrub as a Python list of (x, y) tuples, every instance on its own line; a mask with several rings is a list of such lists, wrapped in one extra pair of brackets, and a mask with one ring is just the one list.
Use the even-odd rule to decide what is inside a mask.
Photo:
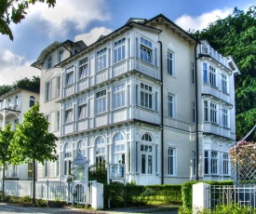
[(105, 165), (106, 146), (102, 136), (95, 140), (96, 165), (103, 167)]

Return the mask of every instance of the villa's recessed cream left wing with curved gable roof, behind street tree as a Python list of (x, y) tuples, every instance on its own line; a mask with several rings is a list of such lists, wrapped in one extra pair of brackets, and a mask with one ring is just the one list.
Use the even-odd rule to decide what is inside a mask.
[[(75, 53), (85, 48), (84, 42), (72, 42), (66, 40), (63, 43), (54, 42), (46, 47), (32, 64), (33, 67), (41, 70), (40, 77), (40, 112), (45, 114), (49, 122), (49, 131), (60, 136), (60, 103), (61, 98), (61, 68), (55, 67), (62, 60), (70, 58)], [(37, 180), (60, 180), (59, 159), (60, 159), (60, 143), (57, 144), (57, 161), (46, 161), (44, 165), (38, 164)]]

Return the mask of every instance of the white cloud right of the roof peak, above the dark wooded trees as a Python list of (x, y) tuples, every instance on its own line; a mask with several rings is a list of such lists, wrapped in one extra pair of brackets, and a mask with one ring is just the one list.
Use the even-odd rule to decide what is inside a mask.
[(218, 19), (226, 18), (233, 12), (234, 8), (215, 9), (208, 13), (203, 13), (197, 17), (191, 17), (189, 15), (183, 15), (174, 22), (182, 27), (183, 30), (203, 30), (209, 26), (210, 22)]

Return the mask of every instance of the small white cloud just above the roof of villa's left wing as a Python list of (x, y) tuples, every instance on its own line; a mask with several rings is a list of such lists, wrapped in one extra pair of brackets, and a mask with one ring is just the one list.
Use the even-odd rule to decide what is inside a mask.
[(87, 46), (89, 46), (92, 43), (96, 42), (97, 39), (99, 39), (99, 37), (101, 35), (107, 35), (109, 33), (112, 33), (112, 30), (104, 28), (104, 27), (94, 28), (89, 33), (83, 33), (83, 34), (76, 35), (74, 37), (74, 41), (76, 42), (79, 40), (83, 40), (87, 44)]

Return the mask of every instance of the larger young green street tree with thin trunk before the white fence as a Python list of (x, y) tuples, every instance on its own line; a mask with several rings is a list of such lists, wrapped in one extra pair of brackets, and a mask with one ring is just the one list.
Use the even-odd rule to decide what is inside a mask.
[(14, 164), (33, 162), (33, 203), (35, 203), (35, 161), (43, 164), (46, 160), (56, 160), (56, 144), (58, 138), (48, 132), (47, 119), (39, 113), (38, 102), (24, 114), (22, 124), (16, 128), (9, 151), (10, 161)]

